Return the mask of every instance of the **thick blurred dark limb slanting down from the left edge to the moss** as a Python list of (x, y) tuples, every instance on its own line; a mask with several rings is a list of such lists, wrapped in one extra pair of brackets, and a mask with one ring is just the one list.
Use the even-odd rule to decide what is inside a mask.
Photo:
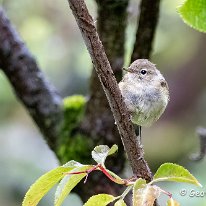
[(19, 35), (0, 8), (0, 67), (17, 97), (55, 150), (62, 121), (62, 99), (45, 79)]

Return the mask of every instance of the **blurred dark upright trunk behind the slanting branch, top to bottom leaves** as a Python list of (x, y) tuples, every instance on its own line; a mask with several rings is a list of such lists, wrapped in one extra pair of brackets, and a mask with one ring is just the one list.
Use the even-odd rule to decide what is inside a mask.
[[(97, 3), (97, 30), (104, 45), (105, 52), (112, 66), (115, 77), (122, 78), (122, 68), (125, 54), (125, 30), (127, 25), (127, 6), (129, 0), (96, 0)], [(95, 108), (95, 109), (94, 109)], [(116, 174), (121, 174), (125, 166), (125, 153), (122, 141), (114, 124), (105, 92), (101, 86), (95, 69), (90, 78), (89, 100), (86, 103), (86, 111), (81, 124), (81, 131), (93, 140), (94, 145), (106, 144), (118, 145), (118, 155), (114, 155), (107, 161), (107, 167)], [(98, 178), (98, 186), (97, 186)], [(110, 193), (115, 196), (121, 194), (122, 187), (99, 174), (91, 176), (87, 187), (79, 187), (83, 201), (99, 193)], [(128, 197), (128, 196), (127, 196)], [(129, 204), (128, 204), (129, 205)]]

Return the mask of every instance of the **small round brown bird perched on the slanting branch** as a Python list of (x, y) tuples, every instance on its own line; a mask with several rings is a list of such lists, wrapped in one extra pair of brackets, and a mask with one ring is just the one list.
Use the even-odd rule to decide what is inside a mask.
[(122, 96), (131, 114), (131, 120), (139, 126), (150, 126), (164, 112), (169, 101), (167, 82), (147, 59), (134, 61), (119, 83)]

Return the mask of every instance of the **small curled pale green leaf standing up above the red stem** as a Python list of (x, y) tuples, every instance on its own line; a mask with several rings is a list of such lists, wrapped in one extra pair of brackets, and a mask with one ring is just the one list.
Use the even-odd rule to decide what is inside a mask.
[(92, 158), (101, 165), (104, 165), (104, 162), (107, 156), (114, 154), (117, 151), (117, 145), (113, 145), (109, 148), (107, 145), (99, 145), (94, 148), (92, 151)]

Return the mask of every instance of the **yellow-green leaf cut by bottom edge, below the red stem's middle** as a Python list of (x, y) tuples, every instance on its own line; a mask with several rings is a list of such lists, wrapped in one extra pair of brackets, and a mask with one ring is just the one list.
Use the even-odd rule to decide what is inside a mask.
[(108, 194), (94, 195), (84, 204), (84, 206), (106, 206), (113, 202), (116, 197)]

